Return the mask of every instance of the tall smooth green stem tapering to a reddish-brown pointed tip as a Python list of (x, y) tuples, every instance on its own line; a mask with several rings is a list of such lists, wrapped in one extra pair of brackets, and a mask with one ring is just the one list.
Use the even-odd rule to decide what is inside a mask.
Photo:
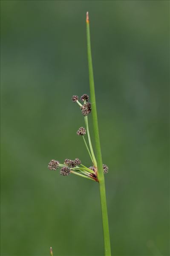
[(87, 33), (87, 53), (88, 53), (88, 65), (89, 65), (89, 85), (90, 85), (90, 95), (91, 95), (91, 102), (92, 102), (92, 119), (93, 119), (93, 129), (94, 129), (94, 137), (95, 137), (96, 158), (97, 158), (97, 164), (98, 164), (97, 176), (98, 176), (98, 182), (100, 185), (101, 212), (102, 212), (103, 232), (104, 232), (104, 255), (111, 256), (106, 191), (105, 191), (105, 182), (104, 182), (104, 172), (103, 172), (103, 166), (102, 166), (100, 138), (99, 138), (99, 131), (98, 131), (98, 117), (97, 117), (97, 109), (96, 109), (96, 102), (95, 102), (95, 85), (94, 85), (93, 68), (92, 68), (92, 54), (91, 54), (91, 45), (90, 45), (89, 13), (88, 12), (86, 13), (86, 33)]

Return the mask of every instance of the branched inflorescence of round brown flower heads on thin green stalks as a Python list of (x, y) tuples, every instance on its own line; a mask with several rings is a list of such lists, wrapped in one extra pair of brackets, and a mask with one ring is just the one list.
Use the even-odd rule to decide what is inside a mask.
[[(84, 105), (82, 105), (78, 101), (78, 96), (77, 95), (73, 95), (72, 96), (72, 101), (78, 103), (78, 105), (81, 108), (82, 114), (86, 117), (92, 111), (91, 103), (88, 102), (89, 96), (87, 94), (83, 94), (81, 96), (81, 100), (84, 102)], [(89, 132), (88, 125), (86, 125), (86, 129), (87, 129), (87, 132)], [(84, 127), (80, 127), (78, 129), (78, 131), (77, 131), (77, 135), (80, 135), (80, 136), (86, 135), (86, 129)], [(88, 139), (90, 139), (89, 138), (89, 133), (88, 133)], [(84, 141), (85, 141), (85, 139), (84, 139)], [(91, 144), (90, 142), (91, 141), (89, 141), (89, 144)], [(85, 141), (85, 144), (86, 144), (86, 141)], [(87, 150), (89, 152), (87, 144), (86, 144), (86, 147), (87, 147)], [(91, 150), (91, 147), (90, 147), (90, 150)], [(77, 175), (79, 175), (81, 177), (86, 177), (88, 179), (92, 179), (92, 180), (95, 180), (95, 181), (98, 182), (98, 178), (97, 178), (97, 165), (95, 165), (96, 161), (94, 161), (94, 158), (92, 158), (91, 153), (89, 152), (89, 155), (90, 155), (90, 157), (92, 159), (93, 166), (90, 166), (89, 168), (87, 168), (86, 166), (82, 165), (81, 164), (81, 160), (78, 159), (78, 158), (75, 158), (75, 160), (71, 160), (71, 159), (67, 159), (66, 158), (64, 160), (63, 164), (60, 164), (59, 161), (53, 159), (53, 160), (51, 160), (49, 162), (48, 168), (49, 168), (49, 170), (57, 170), (59, 167), (61, 167), (60, 174), (63, 175), (63, 176), (68, 176), (70, 173), (74, 173), (74, 174), (77, 174)], [(107, 165), (103, 165), (104, 174), (108, 173), (108, 170), (109, 170), (108, 166)]]

